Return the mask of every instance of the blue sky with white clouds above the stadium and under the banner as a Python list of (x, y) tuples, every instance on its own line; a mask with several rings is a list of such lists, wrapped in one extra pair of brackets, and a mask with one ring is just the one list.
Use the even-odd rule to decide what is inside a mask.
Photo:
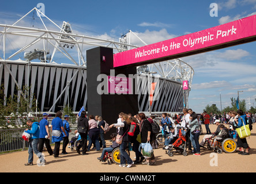
[[(3, 1), (0, 24), (13, 24), (37, 3), (43, 3), (46, 16), (60, 26), (62, 21), (69, 22), (74, 33), (118, 41), (122, 34), (132, 30), (147, 44), (256, 14), (256, 0)], [(210, 3), (217, 3), (218, 17), (210, 16)], [(31, 18), (25, 20), (27, 26), (35, 24)], [(206, 105), (216, 104), (220, 109), (220, 93), (224, 108), (231, 104), (231, 97), (237, 97), (238, 90), (243, 90), (239, 95), (246, 100), (247, 108), (249, 98), (251, 106), (256, 106), (255, 51), (253, 42), (183, 57), (195, 71), (189, 108), (201, 113)]]

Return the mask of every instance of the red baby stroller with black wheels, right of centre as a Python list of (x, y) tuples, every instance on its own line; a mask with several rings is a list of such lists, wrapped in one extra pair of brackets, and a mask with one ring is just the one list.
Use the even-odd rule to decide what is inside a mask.
[(168, 147), (168, 151), (165, 151), (165, 154), (168, 154), (169, 156), (174, 156), (174, 151), (182, 154), (183, 156), (187, 156), (187, 144), (186, 144), (186, 132), (182, 129), (179, 129), (179, 137), (178, 139)]

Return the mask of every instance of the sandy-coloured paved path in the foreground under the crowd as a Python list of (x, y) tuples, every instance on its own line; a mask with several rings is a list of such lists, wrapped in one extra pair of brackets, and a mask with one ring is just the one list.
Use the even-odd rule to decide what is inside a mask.
[[(227, 125), (226, 125), (227, 126)], [(205, 132), (204, 125), (202, 126), (203, 131)], [(28, 151), (18, 151), (10, 154), (0, 155), (0, 172), (56, 172), (56, 173), (163, 173), (163, 172), (256, 172), (256, 124), (253, 126), (252, 136), (247, 138), (251, 150), (250, 155), (239, 155), (237, 153), (226, 154), (215, 154), (213, 157), (207, 149), (201, 148), (201, 156), (194, 156), (188, 154), (183, 156), (181, 154), (174, 154), (170, 157), (165, 154), (165, 151), (162, 149), (163, 145), (156, 150), (155, 156), (157, 163), (155, 166), (145, 166), (142, 164), (133, 165), (130, 168), (119, 167), (117, 164), (108, 165), (107, 163), (102, 163), (97, 160), (97, 157), (101, 155), (101, 151), (90, 151), (89, 155), (78, 155), (76, 152), (71, 152), (67, 148), (67, 155), (62, 156), (59, 159), (55, 159), (53, 156), (48, 155), (48, 152), (44, 152), (45, 159), (47, 163), (45, 166), (37, 166), (36, 158), (34, 157), (33, 166), (24, 166), (24, 163), (28, 160)], [(216, 130), (216, 125), (210, 125), (212, 132)], [(199, 137), (199, 140), (202, 140), (203, 135)], [(107, 145), (110, 142), (107, 141)], [(61, 145), (62, 148), (62, 145)], [(131, 159), (134, 160), (134, 152), (131, 151)], [(212, 159), (217, 160), (215, 162), (217, 166), (210, 166), (210, 163), (213, 163)]]

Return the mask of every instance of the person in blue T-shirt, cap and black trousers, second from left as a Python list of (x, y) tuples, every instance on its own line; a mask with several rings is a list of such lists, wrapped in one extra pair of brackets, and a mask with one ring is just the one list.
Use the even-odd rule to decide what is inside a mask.
[(50, 145), (50, 133), (49, 133), (49, 122), (48, 122), (48, 115), (47, 113), (43, 113), (43, 119), (39, 122), (40, 127), (40, 134), (39, 134), (39, 146), (38, 150), (39, 152), (43, 152), (44, 144), (46, 144), (46, 149), (50, 155), (53, 154), (53, 151), (51, 149)]

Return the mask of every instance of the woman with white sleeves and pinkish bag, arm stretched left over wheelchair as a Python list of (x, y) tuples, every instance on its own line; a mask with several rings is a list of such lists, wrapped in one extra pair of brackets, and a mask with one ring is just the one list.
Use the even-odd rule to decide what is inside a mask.
[[(118, 135), (116, 136), (116, 143), (120, 144), (120, 159), (121, 163), (119, 164), (120, 167), (131, 167), (134, 162), (131, 160), (130, 156), (127, 154), (126, 147), (129, 143), (129, 137), (127, 132), (130, 129), (130, 125), (128, 120), (128, 115), (127, 114), (122, 114), (121, 115), (121, 123), (118, 124), (112, 124), (110, 125), (109, 128), (112, 127), (120, 127)], [(120, 141), (120, 142), (119, 142)], [(122, 143), (121, 143), (122, 141)], [(127, 161), (127, 166), (126, 166), (126, 161)]]

